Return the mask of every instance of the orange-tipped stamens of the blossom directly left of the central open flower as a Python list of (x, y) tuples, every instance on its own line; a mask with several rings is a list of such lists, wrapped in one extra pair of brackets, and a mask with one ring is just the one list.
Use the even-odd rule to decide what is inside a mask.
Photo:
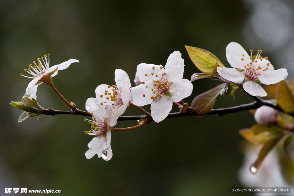
[[(101, 98), (105, 97), (106, 101), (101, 102), (101, 105), (103, 105), (103, 103), (109, 103), (109, 101), (111, 101), (111, 107), (113, 109), (123, 105), (123, 100), (121, 98), (121, 91), (117, 88), (116, 85), (112, 85), (112, 90), (109, 89), (110, 91), (104, 91), (104, 95), (100, 95)], [(110, 85), (108, 85), (108, 88), (111, 88)]]

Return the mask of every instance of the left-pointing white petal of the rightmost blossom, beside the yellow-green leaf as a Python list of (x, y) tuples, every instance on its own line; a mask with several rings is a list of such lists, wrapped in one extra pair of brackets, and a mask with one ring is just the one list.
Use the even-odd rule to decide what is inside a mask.
[(222, 76), (226, 80), (232, 81), (233, 83), (240, 84), (245, 78), (244, 74), (236, 70), (235, 68), (218, 67), (217, 71), (220, 76)]

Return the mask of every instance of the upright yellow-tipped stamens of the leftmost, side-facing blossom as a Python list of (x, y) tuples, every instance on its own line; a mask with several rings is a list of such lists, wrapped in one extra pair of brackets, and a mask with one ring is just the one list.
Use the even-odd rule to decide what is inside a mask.
[[(48, 61), (47, 61), (47, 55), (48, 55)], [(39, 65), (36, 64), (35, 61), (33, 61), (33, 65), (29, 65), (29, 68), (28, 69), (24, 69), (24, 71), (28, 72), (29, 74), (32, 75), (32, 77), (29, 77), (29, 76), (24, 76), (22, 75), (22, 73), (20, 74), (20, 76), (24, 76), (26, 78), (38, 78), (40, 76), (42, 76), (48, 69), (49, 69), (49, 63), (50, 63), (50, 54), (45, 54), (44, 55), (44, 58), (45, 58), (45, 61), (44, 61), (44, 58), (38, 58), (37, 61), (39, 63)], [(41, 60), (43, 61), (43, 63), (41, 62)]]

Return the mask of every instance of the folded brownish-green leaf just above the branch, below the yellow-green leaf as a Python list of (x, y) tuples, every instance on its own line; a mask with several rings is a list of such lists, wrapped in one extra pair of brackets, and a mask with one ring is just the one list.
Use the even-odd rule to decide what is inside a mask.
[(211, 111), (216, 102), (216, 99), (223, 92), (226, 87), (226, 83), (220, 84), (217, 87), (206, 91), (198, 96), (196, 96), (191, 103), (191, 111), (196, 113), (196, 115), (204, 115)]

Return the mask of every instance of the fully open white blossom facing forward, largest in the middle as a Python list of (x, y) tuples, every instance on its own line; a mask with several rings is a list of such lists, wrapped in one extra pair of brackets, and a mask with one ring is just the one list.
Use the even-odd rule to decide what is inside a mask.
[(191, 95), (192, 83), (183, 79), (184, 60), (175, 51), (168, 57), (166, 65), (141, 63), (137, 73), (142, 83), (131, 88), (132, 103), (138, 106), (151, 104), (151, 115), (155, 122), (164, 120), (171, 111), (173, 102)]

